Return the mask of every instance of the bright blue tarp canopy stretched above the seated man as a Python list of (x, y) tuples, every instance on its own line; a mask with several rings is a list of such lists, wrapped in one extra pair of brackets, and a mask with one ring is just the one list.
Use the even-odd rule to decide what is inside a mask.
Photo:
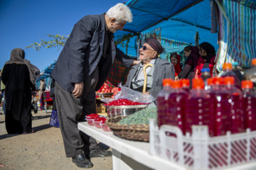
[[(161, 37), (195, 44), (195, 35), (199, 33), (199, 43), (210, 42), (218, 49), (218, 33), (210, 33), (209, 0), (131, 0), (127, 6), (132, 11), (133, 21), (118, 30), (115, 37), (128, 33), (149, 33), (161, 28)], [(129, 43), (129, 55), (136, 55), (134, 40)], [(119, 48), (120, 45), (118, 46)], [(183, 50), (183, 49), (182, 49)]]

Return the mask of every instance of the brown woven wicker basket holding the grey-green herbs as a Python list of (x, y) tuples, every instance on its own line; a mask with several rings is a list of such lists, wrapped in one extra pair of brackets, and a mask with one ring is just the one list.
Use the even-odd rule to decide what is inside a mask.
[(106, 120), (105, 124), (110, 127), (114, 135), (127, 140), (149, 142), (149, 125), (120, 125), (117, 124), (123, 117), (118, 116)]

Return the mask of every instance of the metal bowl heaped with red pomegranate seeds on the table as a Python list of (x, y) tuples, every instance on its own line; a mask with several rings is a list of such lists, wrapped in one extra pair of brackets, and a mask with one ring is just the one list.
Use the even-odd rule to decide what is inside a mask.
[(137, 111), (141, 111), (146, 108), (149, 103), (139, 103), (137, 101), (129, 101), (126, 98), (119, 98), (114, 101), (110, 101), (105, 104), (107, 108), (107, 117), (115, 118), (117, 116), (132, 115)]

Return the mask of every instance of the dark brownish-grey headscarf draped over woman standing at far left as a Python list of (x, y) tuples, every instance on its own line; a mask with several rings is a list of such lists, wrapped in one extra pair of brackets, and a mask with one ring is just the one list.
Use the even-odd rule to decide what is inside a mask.
[(15, 48), (11, 50), (10, 60), (4, 63), (6, 64), (26, 64), (29, 70), (29, 77), (32, 84), (36, 84), (36, 79), (40, 77), (40, 70), (35, 65), (31, 64), (30, 61), (25, 59), (25, 52), (21, 48)]

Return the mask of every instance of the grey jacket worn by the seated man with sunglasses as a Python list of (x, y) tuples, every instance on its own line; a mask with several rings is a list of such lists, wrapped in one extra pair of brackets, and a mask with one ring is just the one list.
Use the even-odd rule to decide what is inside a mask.
[[(124, 86), (128, 88), (132, 88), (132, 79), (134, 78), (136, 72), (138, 71), (139, 64), (131, 67), (127, 82)], [(157, 59), (154, 64), (154, 74), (153, 74), (153, 83), (152, 88), (149, 89), (149, 94), (151, 94), (154, 98), (157, 97), (157, 94), (161, 89), (163, 89), (163, 79), (174, 79), (175, 78), (175, 70), (174, 65), (168, 62), (167, 60)]]

